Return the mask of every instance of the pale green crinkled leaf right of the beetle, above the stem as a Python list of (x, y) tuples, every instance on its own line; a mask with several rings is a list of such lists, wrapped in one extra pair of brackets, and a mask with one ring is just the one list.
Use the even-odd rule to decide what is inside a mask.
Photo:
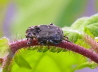
[(77, 19), (72, 24), (71, 29), (77, 30), (81, 33), (88, 33), (88, 35), (92, 34), (92, 36), (98, 36), (98, 14), (95, 14), (91, 17)]

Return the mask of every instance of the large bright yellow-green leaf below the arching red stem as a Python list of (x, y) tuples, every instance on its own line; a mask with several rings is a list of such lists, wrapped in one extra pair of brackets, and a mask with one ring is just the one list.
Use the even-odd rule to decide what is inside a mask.
[[(26, 63), (29, 63), (31, 69), (23, 66), (27, 64), (20, 55), (26, 60)], [(13, 59), (11, 72), (73, 72), (72, 65), (86, 61), (85, 58), (81, 58), (81, 55), (69, 51), (59, 53), (46, 51), (43, 53), (38, 50), (21, 49)]]

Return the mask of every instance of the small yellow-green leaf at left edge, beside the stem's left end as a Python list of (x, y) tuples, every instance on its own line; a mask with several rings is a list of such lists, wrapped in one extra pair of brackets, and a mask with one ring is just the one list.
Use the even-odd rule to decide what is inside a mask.
[(9, 41), (3, 37), (0, 39), (0, 57), (4, 57), (9, 53)]

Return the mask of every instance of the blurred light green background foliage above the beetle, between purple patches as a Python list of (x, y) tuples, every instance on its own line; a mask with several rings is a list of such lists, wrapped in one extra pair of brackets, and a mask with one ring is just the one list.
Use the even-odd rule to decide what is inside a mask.
[(13, 34), (24, 37), (29, 26), (54, 23), (59, 27), (70, 26), (85, 10), (85, 0), (15, 0), (16, 16)]

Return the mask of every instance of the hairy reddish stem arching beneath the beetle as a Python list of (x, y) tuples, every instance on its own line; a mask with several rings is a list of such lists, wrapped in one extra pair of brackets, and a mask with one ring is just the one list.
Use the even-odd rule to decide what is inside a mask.
[[(33, 43), (31, 44), (31, 46), (35, 46), (35, 45), (39, 45), (37, 40), (33, 40)], [(71, 42), (62, 41), (62, 43), (60, 43), (58, 45), (50, 45), (50, 46), (61, 47), (61, 48), (67, 49), (67, 50), (71, 50), (73, 52), (77, 52), (77, 53), (79, 53), (83, 56), (86, 56), (87, 58), (95, 61), (96, 63), (98, 63), (98, 54), (97, 53), (92, 52), (81, 46), (75, 45)], [(16, 41), (16, 42), (10, 43), (10, 48), (13, 53), (15, 53), (18, 49), (21, 49), (24, 47), (29, 47), (27, 45), (27, 40), (21, 40), (21, 41)]]

